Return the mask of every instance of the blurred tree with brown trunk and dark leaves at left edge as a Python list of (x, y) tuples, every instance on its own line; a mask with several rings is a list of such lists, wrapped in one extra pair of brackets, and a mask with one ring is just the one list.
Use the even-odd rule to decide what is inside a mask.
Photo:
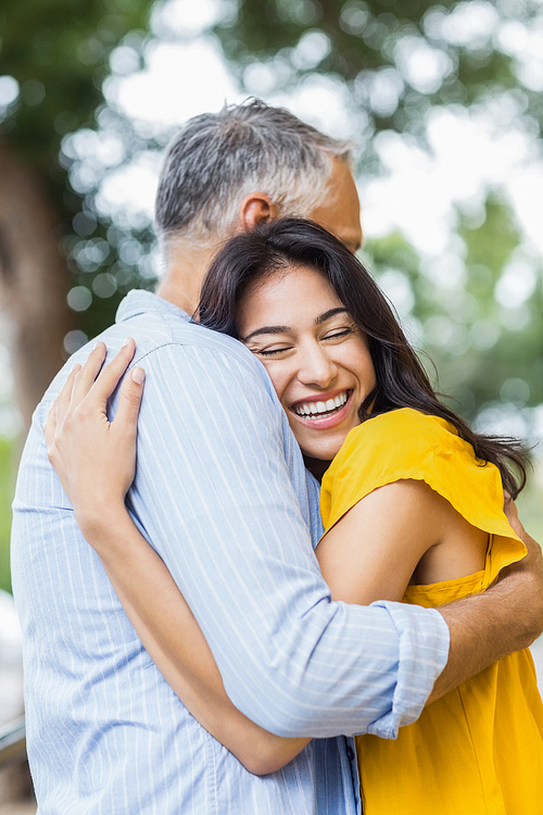
[[(66, 293), (70, 267), (77, 267), (66, 259), (65, 238), (97, 225), (60, 163), (61, 142), (94, 126), (109, 54), (146, 25), (150, 4), (3, 0), (0, 7), (0, 301), (26, 423), (74, 350), (68, 331), (77, 328)], [(92, 327), (110, 314), (90, 321)]]

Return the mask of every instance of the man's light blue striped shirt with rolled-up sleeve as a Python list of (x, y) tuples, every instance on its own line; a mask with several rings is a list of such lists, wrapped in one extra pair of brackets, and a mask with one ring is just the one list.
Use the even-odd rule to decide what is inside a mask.
[(47, 459), (41, 427), (72, 359), (36, 411), (14, 502), (39, 813), (354, 815), (349, 737), (394, 737), (418, 716), (446, 662), (449, 630), (431, 610), (331, 602), (313, 552), (318, 488), (264, 367), (242, 344), (144, 291), (128, 296), (102, 339), (114, 353), (127, 336), (147, 372), (134, 516), (237, 707), (275, 734), (315, 739), (282, 770), (252, 776), (149, 659)]

